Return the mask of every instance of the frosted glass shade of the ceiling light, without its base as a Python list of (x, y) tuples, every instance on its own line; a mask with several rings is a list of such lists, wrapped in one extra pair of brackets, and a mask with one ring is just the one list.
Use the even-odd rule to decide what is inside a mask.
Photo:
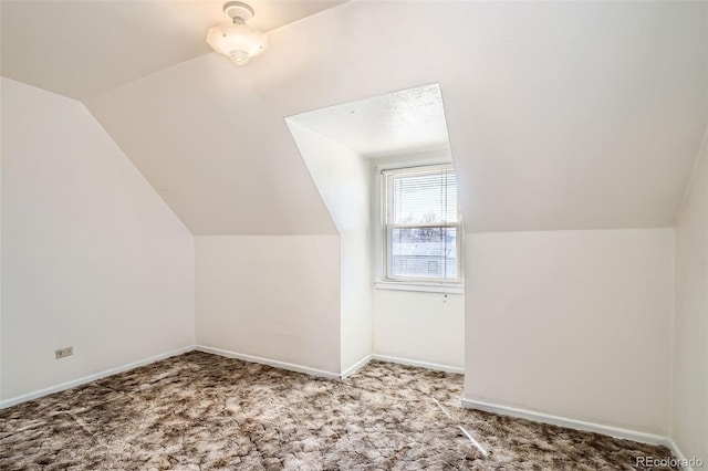
[(207, 32), (207, 42), (236, 65), (246, 65), (268, 48), (268, 36), (247, 24), (219, 24)]

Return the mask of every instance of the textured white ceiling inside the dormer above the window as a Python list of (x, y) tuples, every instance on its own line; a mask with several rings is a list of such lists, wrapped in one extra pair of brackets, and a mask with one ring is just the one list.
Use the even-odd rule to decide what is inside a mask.
[(289, 119), (369, 158), (448, 147), (438, 84), (329, 106)]

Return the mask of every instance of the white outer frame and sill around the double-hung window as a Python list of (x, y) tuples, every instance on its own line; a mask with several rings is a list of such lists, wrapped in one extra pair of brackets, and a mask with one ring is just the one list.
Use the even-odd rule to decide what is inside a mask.
[[(375, 287), (378, 290), (402, 290), (402, 291), (421, 291), (421, 292), (435, 292), (435, 293), (451, 293), (464, 294), (465, 293), (465, 257), (464, 257), (464, 221), (461, 214), (457, 223), (451, 227), (457, 228), (457, 254), (460, 264), (460, 279), (459, 281), (433, 281), (425, 279), (388, 279), (386, 276), (386, 258), (388, 257), (388, 228), (386, 227), (386, 201), (385, 197), (385, 178), (384, 171), (397, 170), (417, 167), (451, 165), (452, 161), (449, 158), (448, 153), (427, 153), (424, 156), (416, 156), (416, 158), (405, 159), (397, 158), (396, 160), (377, 160), (374, 161), (375, 172), (375, 195), (374, 195), (374, 211), (375, 221), (375, 266), (376, 266), (376, 281)], [(459, 212), (459, 201), (458, 201)], [(437, 224), (436, 227), (439, 227)]]

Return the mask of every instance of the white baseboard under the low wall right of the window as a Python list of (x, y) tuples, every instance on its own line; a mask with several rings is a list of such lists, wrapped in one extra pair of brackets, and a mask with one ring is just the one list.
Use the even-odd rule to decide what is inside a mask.
[(604, 426), (601, 423), (586, 422), (583, 420), (569, 419), (560, 416), (551, 416), (548, 414), (537, 412), (528, 409), (518, 409), (516, 407), (499, 406), (490, 402), (482, 402), (472, 399), (462, 399), (462, 406), (469, 409), (483, 410), (485, 412), (498, 414), (500, 416), (518, 417), (520, 419), (533, 420), (535, 422), (551, 423), (554, 426), (565, 427), (569, 429), (590, 431), (610, 437), (621, 438), (624, 440), (638, 441), (641, 443), (663, 444), (668, 447), (668, 439), (659, 435), (645, 433), (635, 430), (622, 429), (618, 427)]

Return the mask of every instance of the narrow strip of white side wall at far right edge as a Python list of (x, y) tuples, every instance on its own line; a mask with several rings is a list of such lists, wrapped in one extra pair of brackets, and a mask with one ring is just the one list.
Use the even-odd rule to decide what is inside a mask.
[(676, 220), (671, 437), (708, 462), (708, 137)]

